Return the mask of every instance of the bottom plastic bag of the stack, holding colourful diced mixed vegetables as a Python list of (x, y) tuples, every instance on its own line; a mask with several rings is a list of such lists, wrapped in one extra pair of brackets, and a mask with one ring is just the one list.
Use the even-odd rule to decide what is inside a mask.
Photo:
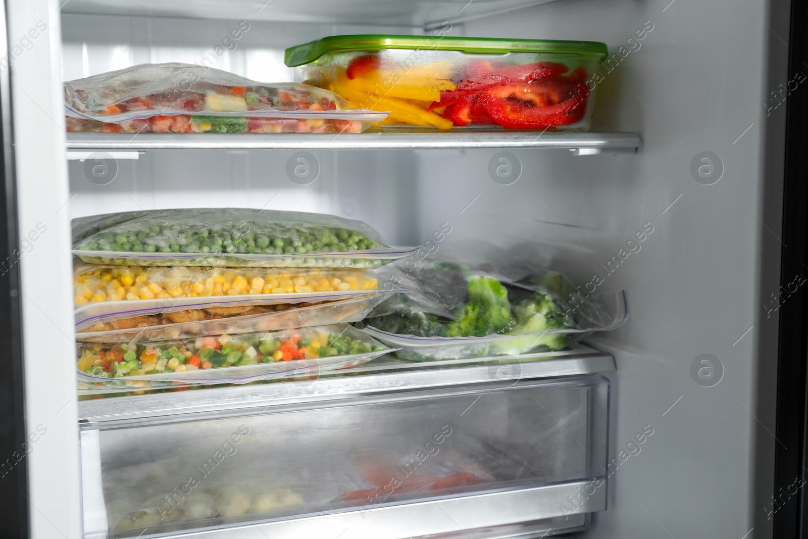
[[(129, 343), (79, 343), (80, 381), (104, 386), (129, 381), (246, 384), (354, 367), (391, 352), (347, 324)], [(137, 385), (137, 384), (136, 384)]]

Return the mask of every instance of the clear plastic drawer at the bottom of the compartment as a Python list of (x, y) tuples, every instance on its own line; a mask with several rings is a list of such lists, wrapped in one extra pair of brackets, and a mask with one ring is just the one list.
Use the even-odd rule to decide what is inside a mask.
[(86, 423), (86, 537), (580, 529), (605, 508), (608, 391), (568, 377)]

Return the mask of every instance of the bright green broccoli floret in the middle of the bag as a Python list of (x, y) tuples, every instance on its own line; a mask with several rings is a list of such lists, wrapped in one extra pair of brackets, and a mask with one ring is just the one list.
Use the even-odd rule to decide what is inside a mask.
[(448, 324), (449, 337), (484, 337), (507, 331), (511, 326), (511, 304), (507, 289), (499, 280), (474, 276), (467, 286), (469, 300), (455, 312)]

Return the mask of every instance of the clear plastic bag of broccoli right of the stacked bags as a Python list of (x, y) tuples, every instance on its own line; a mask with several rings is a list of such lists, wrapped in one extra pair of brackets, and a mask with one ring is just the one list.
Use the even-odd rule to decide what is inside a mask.
[(413, 292), (379, 305), (357, 326), (402, 347), (398, 356), (408, 360), (564, 350), (627, 317), (624, 293), (573, 295), (573, 284), (558, 272), (512, 280), (467, 264), (430, 261), (406, 274), (397, 268), (383, 273)]

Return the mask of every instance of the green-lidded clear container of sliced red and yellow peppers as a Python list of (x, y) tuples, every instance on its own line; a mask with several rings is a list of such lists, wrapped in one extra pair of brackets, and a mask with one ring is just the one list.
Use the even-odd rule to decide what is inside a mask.
[(302, 65), (306, 83), (389, 111), (381, 125), (586, 129), (586, 81), (606, 50), (583, 41), (334, 36), (288, 48), (286, 62)]

